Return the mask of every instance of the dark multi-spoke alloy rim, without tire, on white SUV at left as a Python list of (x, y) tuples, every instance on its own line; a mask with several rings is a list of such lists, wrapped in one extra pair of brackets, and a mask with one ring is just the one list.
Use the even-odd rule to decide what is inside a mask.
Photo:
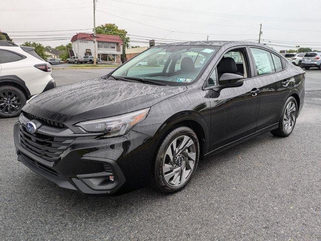
[(14, 91), (3, 91), (0, 93), (0, 112), (12, 114), (19, 111), (21, 107), (20, 96)]

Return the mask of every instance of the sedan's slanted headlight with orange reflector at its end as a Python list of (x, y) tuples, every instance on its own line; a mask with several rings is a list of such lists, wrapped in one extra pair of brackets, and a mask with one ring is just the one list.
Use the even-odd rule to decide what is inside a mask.
[(122, 136), (128, 133), (135, 125), (142, 122), (148, 115), (150, 108), (121, 114), (113, 117), (81, 122), (76, 126), (87, 132), (104, 132), (106, 137)]

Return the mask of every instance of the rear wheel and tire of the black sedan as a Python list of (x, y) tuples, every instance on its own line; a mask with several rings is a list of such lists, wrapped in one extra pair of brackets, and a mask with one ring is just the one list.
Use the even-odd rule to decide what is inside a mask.
[[(289, 112), (288, 110), (292, 110), (292, 111)], [(293, 96), (290, 96), (286, 100), (282, 108), (282, 112), (279, 120), (279, 127), (275, 130), (272, 130), (271, 133), (277, 137), (288, 137), (292, 133), (295, 127), (297, 110), (298, 108), (297, 108), (296, 100)]]

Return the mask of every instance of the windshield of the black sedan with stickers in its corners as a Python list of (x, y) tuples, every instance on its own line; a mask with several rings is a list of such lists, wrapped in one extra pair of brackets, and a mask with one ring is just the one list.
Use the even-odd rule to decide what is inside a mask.
[(186, 85), (196, 79), (218, 49), (217, 46), (154, 47), (131, 59), (112, 75)]

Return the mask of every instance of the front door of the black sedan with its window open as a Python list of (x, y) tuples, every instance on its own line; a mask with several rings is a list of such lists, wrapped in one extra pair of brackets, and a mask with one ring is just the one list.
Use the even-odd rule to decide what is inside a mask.
[[(239, 87), (218, 88), (220, 80), (217, 67), (212, 70), (206, 82), (205, 89), (207, 89), (211, 108), (210, 151), (224, 148), (230, 143), (253, 134), (256, 129), (260, 95), (255, 93), (255, 90), (259, 88), (259, 83), (252, 73), (248, 50), (244, 48), (237, 51), (240, 51), (242, 60), (236, 63), (241, 64), (240, 61), (244, 61), (242, 62), (245, 67), (243, 71), (246, 72), (243, 84)], [(236, 52), (234, 51), (234, 55)], [(227, 54), (231, 57), (229, 52)]]

